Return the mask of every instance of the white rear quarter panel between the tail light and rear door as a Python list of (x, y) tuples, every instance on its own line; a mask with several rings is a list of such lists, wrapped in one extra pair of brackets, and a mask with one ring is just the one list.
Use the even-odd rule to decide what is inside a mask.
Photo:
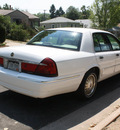
[(57, 62), (58, 75), (84, 75), (89, 69), (98, 66), (94, 53), (78, 52), (72, 58)]

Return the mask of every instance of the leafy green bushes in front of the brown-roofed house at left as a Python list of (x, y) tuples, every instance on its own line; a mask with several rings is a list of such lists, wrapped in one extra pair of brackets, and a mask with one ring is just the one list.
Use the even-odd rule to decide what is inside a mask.
[[(26, 23), (22, 23), (20, 25), (17, 25), (16, 23), (11, 23), (10, 17), (7, 16), (0, 15), (0, 24), (4, 27), (6, 31), (6, 37), (11, 40), (26, 41), (36, 34), (36, 31)], [(4, 39), (1, 33), (0, 37)], [(3, 41), (4, 40), (0, 41), (0, 43)]]

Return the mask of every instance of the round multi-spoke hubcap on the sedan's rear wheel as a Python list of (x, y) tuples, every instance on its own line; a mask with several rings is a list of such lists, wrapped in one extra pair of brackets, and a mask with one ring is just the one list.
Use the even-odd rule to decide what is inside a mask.
[(84, 92), (87, 97), (91, 96), (94, 93), (96, 87), (96, 80), (96, 75), (91, 74), (88, 76), (84, 88)]

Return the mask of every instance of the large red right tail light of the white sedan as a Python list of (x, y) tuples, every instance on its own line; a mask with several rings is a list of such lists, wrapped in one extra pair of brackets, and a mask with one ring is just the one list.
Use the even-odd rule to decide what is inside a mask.
[(39, 65), (22, 63), (21, 69), (22, 72), (41, 76), (55, 77), (58, 75), (57, 66), (50, 58), (45, 58)]

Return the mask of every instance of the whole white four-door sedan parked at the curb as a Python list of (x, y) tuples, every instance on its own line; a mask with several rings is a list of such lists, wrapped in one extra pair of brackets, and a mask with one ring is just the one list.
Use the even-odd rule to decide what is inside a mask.
[(0, 49), (0, 85), (35, 98), (74, 91), (90, 98), (97, 82), (119, 72), (119, 40), (95, 29), (48, 29)]

